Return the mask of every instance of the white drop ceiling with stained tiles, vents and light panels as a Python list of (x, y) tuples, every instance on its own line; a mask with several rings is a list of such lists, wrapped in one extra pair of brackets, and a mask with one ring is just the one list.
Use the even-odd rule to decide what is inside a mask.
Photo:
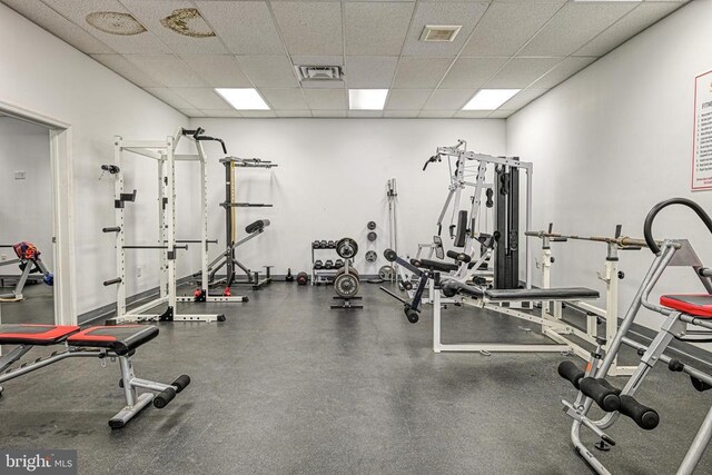
[[(0, 2), (189, 117), (506, 118), (688, 0)], [(161, 24), (190, 8), (215, 36)], [(129, 13), (146, 31), (101, 31), (95, 12)], [(463, 28), (424, 42), (426, 24)], [(299, 65), (343, 66), (345, 80), (300, 83)], [(230, 87), (256, 88), (270, 110), (234, 110), (214, 91)], [(349, 111), (348, 88), (388, 89), (385, 109)], [(522, 91), (494, 111), (461, 110), (482, 88)]]

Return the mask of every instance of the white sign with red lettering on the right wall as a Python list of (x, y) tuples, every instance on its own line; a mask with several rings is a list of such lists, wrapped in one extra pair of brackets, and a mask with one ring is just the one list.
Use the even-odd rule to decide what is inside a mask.
[(712, 71), (694, 79), (692, 190), (712, 189)]

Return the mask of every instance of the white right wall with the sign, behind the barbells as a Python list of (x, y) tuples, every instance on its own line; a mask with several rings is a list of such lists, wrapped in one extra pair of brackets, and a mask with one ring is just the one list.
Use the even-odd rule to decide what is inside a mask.
[[(712, 212), (712, 194), (690, 191), (694, 78), (712, 69), (711, 18), (711, 0), (690, 2), (507, 120), (507, 152), (534, 162), (535, 228), (554, 221), (561, 232), (612, 235), (622, 224), (624, 234), (641, 236), (647, 210), (675, 196)], [(691, 212), (663, 212), (655, 235), (689, 238), (712, 264), (712, 236)], [(603, 267), (603, 246), (571, 243), (554, 251), (554, 284), (602, 288), (593, 271)], [(622, 253), (622, 313), (651, 258)], [(660, 289), (703, 290), (681, 269)]]

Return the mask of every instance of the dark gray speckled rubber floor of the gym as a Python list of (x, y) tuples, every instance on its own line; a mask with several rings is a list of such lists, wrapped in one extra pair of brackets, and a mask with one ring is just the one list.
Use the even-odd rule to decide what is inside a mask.
[[(210, 304), (225, 323), (160, 324), (137, 375), (192, 384), (120, 431), (107, 425), (122, 405), (116, 364), (73, 359), (8, 382), (0, 447), (76, 448), (81, 474), (591, 473), (561, 410), (575, 394), (556, 375), (563, 356), (436, 355), (427, 311), (408, 324), (378, 286), (364, 287), (363, 310), (329, 310), (330, 288), (275, 283), (246, 290), (247, 304)], [(3, 320), (28, 304), (3, 306)], [(547, 342), (472, 308), (443, 320), (447, 343)], [(614, 473), (674, 473), (710, 394), (656, 368), (639, 399), (660, 426), (621, 419), (610, 431), (619, 445), (596, 454)], [(712, 453), (698, 473), (712, 473)]]

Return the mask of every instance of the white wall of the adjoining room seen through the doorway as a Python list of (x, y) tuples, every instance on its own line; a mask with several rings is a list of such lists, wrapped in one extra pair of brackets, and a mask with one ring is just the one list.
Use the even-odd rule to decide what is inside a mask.
[[(16, 171), (24, 171), (26, 179), (16, 180)], [(49, 131), (11, 117), (0, 117), (0, 244), (33, 243), (50, 269), (53, 261), (51, 175)], [(16, 258), (12, 249), (0, 249), (0, 261)], [(0, 274), (18, 275), (20, 268), (2, 266)]]

